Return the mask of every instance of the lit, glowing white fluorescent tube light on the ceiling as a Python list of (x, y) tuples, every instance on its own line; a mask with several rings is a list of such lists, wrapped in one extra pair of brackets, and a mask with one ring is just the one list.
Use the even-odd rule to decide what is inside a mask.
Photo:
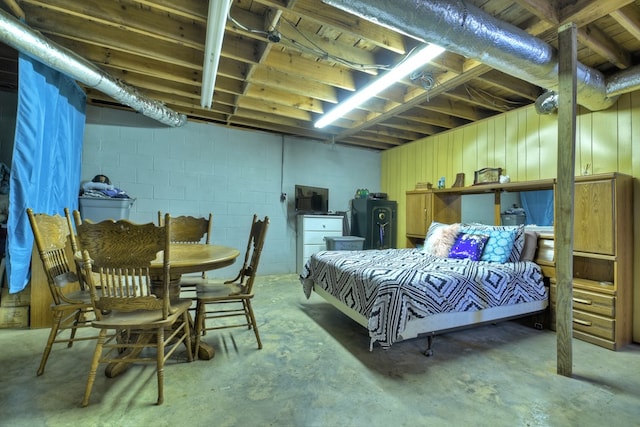
[(362, 105), (365, 101), (376, 96), (398, 80), (403, 79), (412, 71), (417, 70), (427, 62), (433, 60), (442, 52), (444, 52), (444, 49), (435, 44), (429, 44), (423, 47), (395, 66), (392, 70), (387, 71), (380, 78), (369, 83), (367, 86), (345, 99), (342, 103), (338, 104), (333, 110), (320, 117), (314, 126), (317, 128), (323, 128), (328, 124), (333, 123), (338, 118), (342, 117), (354, 108), (357, 108), (359, 105)]

